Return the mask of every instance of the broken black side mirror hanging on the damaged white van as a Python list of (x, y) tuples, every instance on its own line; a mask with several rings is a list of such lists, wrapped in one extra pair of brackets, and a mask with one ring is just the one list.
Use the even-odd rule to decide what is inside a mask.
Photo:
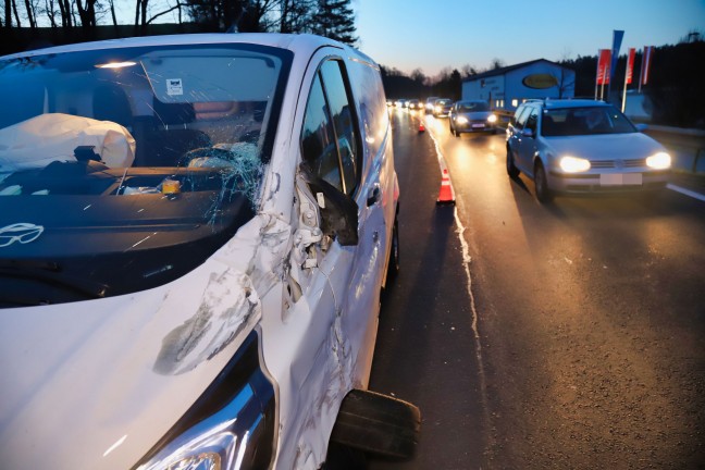
[[(358, 205), (352, 198), (341, 193), (335, 186), (316, 175), (311, 166), (304, 162), (299, 165), (304, 181), (319, 200), (321, 207), (321, 231), (342, 246), (358, 244)], [(321, 201), (321, 196), (323, 200)], [(321, 203), (323, 202), (323, 203)]]

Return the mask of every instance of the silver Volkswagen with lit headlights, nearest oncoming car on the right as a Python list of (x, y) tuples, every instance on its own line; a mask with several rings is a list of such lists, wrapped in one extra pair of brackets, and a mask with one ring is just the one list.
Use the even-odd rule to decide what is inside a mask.
[(506, 137), (507, 173), (532, 178), (541, 202), (557, 194), (657, 191), (670, 172), (666, 149), (603, 101), (528, 101)]

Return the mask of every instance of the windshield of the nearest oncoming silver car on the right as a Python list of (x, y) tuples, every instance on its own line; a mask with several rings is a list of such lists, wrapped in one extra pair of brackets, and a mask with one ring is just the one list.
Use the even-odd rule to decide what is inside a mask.
[(545, 137), (638, 132), (613, 106), (544, 110), (541, 133)]

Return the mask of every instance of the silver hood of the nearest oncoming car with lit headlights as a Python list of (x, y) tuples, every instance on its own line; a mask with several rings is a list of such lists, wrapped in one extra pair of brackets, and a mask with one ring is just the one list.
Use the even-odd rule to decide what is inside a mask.
[(590, 160), (643, 159), (664, 147), (642, 133), (544, 137), (555, 157), (571, 154)]

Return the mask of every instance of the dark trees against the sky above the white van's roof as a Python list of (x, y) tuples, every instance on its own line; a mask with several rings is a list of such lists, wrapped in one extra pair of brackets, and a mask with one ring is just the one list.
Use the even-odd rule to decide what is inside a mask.
[[(134, 21), (132, 21), (134, 18)], [(165, 18), (175, 23), (160, 24)], [(0, 54), (96, 39), (181, 33), (312, 33), (356, 45), (350, 0), (2, 0)]]

